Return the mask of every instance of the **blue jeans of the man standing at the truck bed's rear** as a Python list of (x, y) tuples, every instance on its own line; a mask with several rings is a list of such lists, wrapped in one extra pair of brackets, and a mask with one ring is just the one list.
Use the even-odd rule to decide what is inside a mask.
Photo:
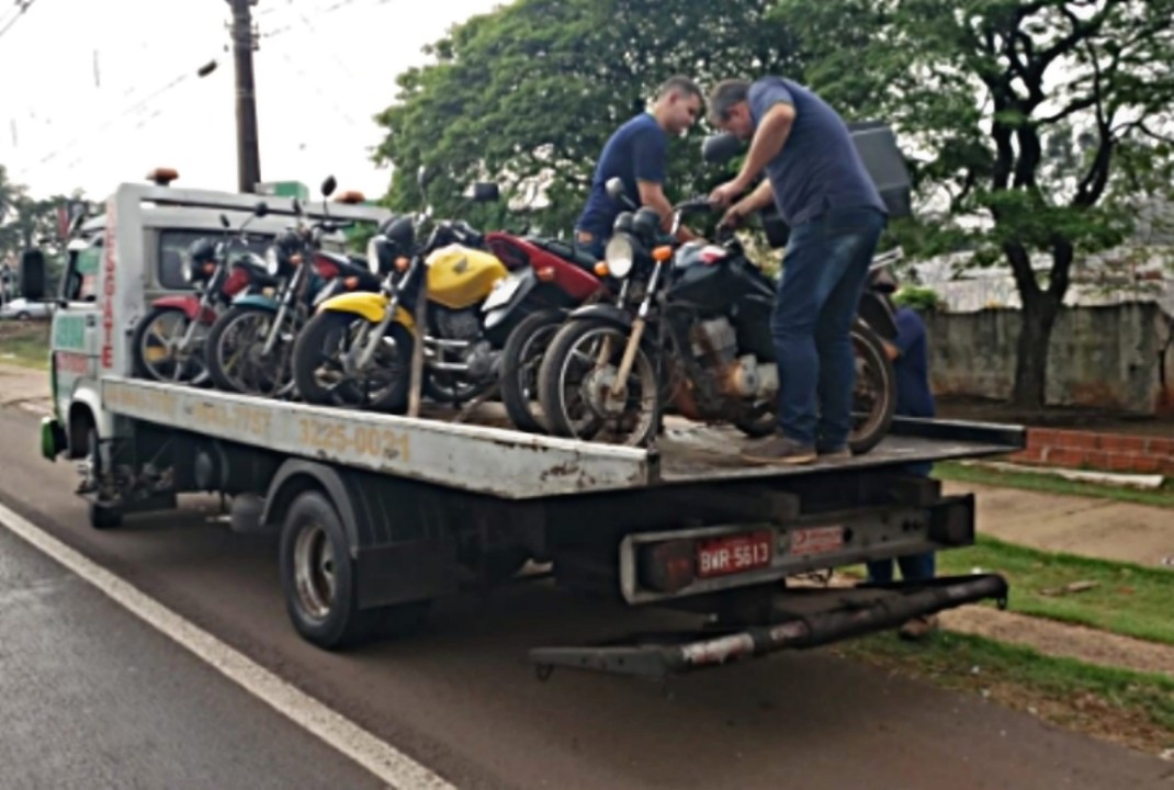
[(829, 209), (791, 228), (770, 329), (780, 430), (805, 446), (848, 444), (856, 384), (849, 332), (885, 222), (871, 208)]

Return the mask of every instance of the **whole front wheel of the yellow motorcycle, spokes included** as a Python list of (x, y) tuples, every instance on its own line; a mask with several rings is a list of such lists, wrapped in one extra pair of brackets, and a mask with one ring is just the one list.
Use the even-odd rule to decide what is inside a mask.
[[(338, 359), (351, 349), (356, 330), (364, 318), (326, 310), (306, 323), (294, 345), (294, 383), (306, 403), (364, 411), (403, 412), (407, 407), (411, 382), (412, 335), (403, 324), (392, 323), (384, 336), (394, 343), (394, 357), (384, 358), (380, 347), (369, 376), (346, 377)], [(323, 384), (323, 369), (333, 385)], [(372, 382), (378, 389), (372, 389)]]

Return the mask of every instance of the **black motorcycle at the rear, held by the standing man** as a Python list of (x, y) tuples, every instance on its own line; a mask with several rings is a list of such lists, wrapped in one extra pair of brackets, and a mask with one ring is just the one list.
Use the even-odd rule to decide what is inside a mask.
[[(608, 184), (620, 200), (622, 184)], [(682, 220), (713, 208), (704, 197), (674, 207), (670, 236)], [(623, 282), (615, 304), (572, 312), (551, 340), (539, 370), (539, 401), (552, 433), (647, 446), (666, 407), (691, 420), (731, 423), (761, 437), (777, 424), (780, 371), (770, 315), (776, 283), (745, 256), (731, 231), (717, 243), (657, 244), (660, 217), (625, 211), (605, 254), (608, 274)], [(859, 311), (896, 335), (891, 308), (871, 291)], [(888, 319), (888, 320), (885, 320)], [(864, 453), (892, 423), (897, 391), (892, 363), (875, 328), (859, 316), (853, 430), (849, 445)]]

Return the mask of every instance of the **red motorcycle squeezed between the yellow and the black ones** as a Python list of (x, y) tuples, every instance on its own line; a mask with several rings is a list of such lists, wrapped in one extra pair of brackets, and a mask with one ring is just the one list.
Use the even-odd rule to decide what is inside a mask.
[(569, 311), (608, 295), (609, 283), (593, 256), (565, 242), (505, 231), (485, 242), (511, 270), (483, 306), (487, 331), (513, 324), (501, 351), (501, 401), (519, 431), (545, 433), (535, 412), (542, 352)]

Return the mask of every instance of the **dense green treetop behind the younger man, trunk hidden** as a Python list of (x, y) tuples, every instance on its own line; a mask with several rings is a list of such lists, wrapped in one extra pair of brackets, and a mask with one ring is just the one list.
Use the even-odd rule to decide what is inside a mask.
[[(544, 193), (537, 220), (548, 232), (569, 231), (607, 137), (661, 81), (683, 73), (704, 88), (785, 65), (788, 39), (765, 19), (770, 5), (518, 0), (456, 26), (426, 48), (434, 63), (399, 77), (396, 103), (378, 116), (387, 135), (376, 161), (394, 167), (387, 202), (418, 208), (425, 166), (437, 175), (427, 191), (439, 216), (458, 209), (470, 182), (493, 180), (514, 198)], [(713, 182), (697, 130), (674, 141), (670, 157), (670, 200)]]

